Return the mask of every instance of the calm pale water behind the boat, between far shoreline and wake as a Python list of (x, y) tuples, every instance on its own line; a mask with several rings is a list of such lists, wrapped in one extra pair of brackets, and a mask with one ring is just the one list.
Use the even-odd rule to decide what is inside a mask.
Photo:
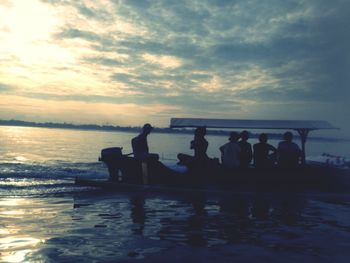
[[(49, 129), (31, 127), (0, 127), (0, 163), (47, 163), (50, 161), (96, 162), (101, 149), (123, 147), (123, 153), (131, 152), (130, 140), (137, 132), (103, 132), (68, 129)], [(189, 142), (191, 134), (160, 134), (149, 136), (151, 152), (166, 159), (177, 159), (179, 152), (193, 154)], [(208, 155), (220, 157), (219, 147), (227, 142), (226, 136), (208, 135)], [(257, 142), (251, 138), (250, 143)], [(269, 142), (277, 146), (279, 139)], [(298, 139), (295, 142), (300, 144)], [(350, 157), (349, 142), (309, 140), (308, 156), (323, 152)]]

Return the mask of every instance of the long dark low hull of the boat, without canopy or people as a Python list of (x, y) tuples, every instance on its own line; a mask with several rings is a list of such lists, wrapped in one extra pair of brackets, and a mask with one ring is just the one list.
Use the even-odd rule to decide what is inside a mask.
[[(160, 165), (160, 166), (159, 166)], [(225, 171), (221, 167), (205, 168), (186, 173), (170, 171), (161, 164), (148, 166), (148, 180), (145, 184), (142, 170), (135, 164), (121, 167), (122, 181), (88, 180), (77, 178), (80, 186), (99, 187), (113, 191), (146, 192), (330, 192), (350, 193), (350, 173), (348, 169), (301, 166), (294, 170), (274, 167), (268, 170), (249, 168)]]

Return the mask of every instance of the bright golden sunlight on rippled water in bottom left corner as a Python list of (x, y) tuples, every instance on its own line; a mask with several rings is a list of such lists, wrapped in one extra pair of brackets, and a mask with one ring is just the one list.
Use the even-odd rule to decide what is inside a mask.
[(49, 238), (41, 229), (62, 208), (56, 205), (33, 198), (0, 199), (0, 262), (27, 262)]

